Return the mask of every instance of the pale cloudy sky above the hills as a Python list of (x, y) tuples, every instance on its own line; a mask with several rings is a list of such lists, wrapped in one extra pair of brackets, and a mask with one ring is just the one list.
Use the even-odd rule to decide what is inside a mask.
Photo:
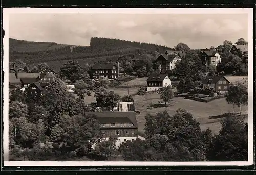
[(248, 39), (247, 14), (10, 14), (9, 38), (89, 46), (91, 37), (173, 48), (217, 47)]

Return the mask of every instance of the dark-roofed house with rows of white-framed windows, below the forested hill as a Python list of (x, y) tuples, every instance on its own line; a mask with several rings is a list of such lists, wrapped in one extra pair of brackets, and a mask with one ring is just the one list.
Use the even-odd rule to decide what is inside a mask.
[(118, 79), (117, 65), (114, 63), (97, 63), (91, 68), (91, 78), (98, 80), (104, 77), (110, 80)]

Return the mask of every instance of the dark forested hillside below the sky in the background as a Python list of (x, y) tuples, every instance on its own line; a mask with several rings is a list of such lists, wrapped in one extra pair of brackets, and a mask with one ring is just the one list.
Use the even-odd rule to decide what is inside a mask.
[(22, 60), (30, 67), (45, 62), (58, 70), (68, 60), (78, 60), (81, 66), (99, 61), (114, 60), (140, 52), (164, 53), (165, 46), (110, 38), (91, 38), (90, 46), (63, 45), (53, 42), (30, 42), (9, 39), (9, 61)]

